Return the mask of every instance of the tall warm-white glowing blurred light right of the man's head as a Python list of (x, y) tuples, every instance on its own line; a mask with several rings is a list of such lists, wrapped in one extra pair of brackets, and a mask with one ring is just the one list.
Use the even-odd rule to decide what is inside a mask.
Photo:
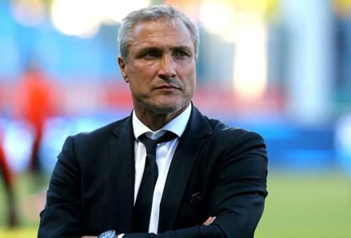
[(260, 14), (237, 13), (233, 87), (245, 100), (263, 96), (267, 86), (266, 27)]

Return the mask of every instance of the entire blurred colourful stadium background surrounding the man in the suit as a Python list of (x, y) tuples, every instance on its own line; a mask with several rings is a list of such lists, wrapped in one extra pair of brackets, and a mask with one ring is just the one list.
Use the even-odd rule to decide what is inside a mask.
[(0, 237), (36, 237), (68, 135), (130, 114), (117, 31), (162, 3), (200, 28), (195, 105), (266, 140), (256, 237), (351, 237), (351, 0), (0, 0)]

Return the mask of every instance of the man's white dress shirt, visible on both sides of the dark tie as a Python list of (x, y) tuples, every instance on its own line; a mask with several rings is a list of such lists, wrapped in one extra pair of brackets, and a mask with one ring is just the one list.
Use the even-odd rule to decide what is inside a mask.
[[(185, 127), (188, 123), (191, 113), (191, 104), (176, 118), (168, 122), (158, 131), (151, 131), (147, 126), (145, 126), (135, 115), (133, 111), (132, 123), (133, 132), (135, 138), (144, 134), (150, 139), (157, 139), (166, 131), (171, 131), (177, 135), (177, 137), (171, 141), (160, 143), (156, 148), (156, 163), (158, 167), (158, 178), (155, 185), (153, 198), (152, 198), (152, 208), (150, 215), (149, 233), (157, 234), (160, 202), (163, 193), (163, 189), (166, 183), (166, 177), (168, 169), (170, 168), (171, 161), (176, 151), (177, 145), (179, 143), (179, 138), (183, 134)], [(146, 148), (144, 144), (140, 141), (134, 140), (134, 161), (135, 161), (135, 184), (134, 184), (134, 204), (137, 200), (137, 195), (139, 187), (141, 184), (141, 179), (143, 178), (145, 159), (146, 159)], [(123, 235), (118, 236), (121, 238)]]

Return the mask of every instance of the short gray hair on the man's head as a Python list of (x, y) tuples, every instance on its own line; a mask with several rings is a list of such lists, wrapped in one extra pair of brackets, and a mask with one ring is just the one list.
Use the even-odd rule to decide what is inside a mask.
[(119, 52), (125, 61), (128, 61), (128, 46), (132, 40), (133, 26), (139, 22), (158, 21), (160, 19), (171, 20), (175, 25), (182, 22), (190, 31), (190, 36), (194, 42), (195, 59), (199, 52), (199, 28), (180, 10), (172, 6), (150, 6), (141, 8), (129, 13), (123, 20), (118, 31)]

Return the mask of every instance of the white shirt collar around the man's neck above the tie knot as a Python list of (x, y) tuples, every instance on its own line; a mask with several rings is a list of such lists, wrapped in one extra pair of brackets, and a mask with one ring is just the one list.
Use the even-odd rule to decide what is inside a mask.
[(152, 131), (150, 128), (145, 126), (135, 115), (135, 111), (133, 110), (132, 116), (132, 124), (133, 124), (133, 133), (134, 137), (137, 139), (140, 135), (146, 133), (145, 135), (150, 139), (157, 139), (161, 135), (163, 135), (166, 131), (171, 131), (176, 134), (178, 137), (185, 131), (185, 127), (188, 123), (191, 114), (191, 104), (177, 117), (173, 118), (166, 125), (160, 128), (157, 131)]

